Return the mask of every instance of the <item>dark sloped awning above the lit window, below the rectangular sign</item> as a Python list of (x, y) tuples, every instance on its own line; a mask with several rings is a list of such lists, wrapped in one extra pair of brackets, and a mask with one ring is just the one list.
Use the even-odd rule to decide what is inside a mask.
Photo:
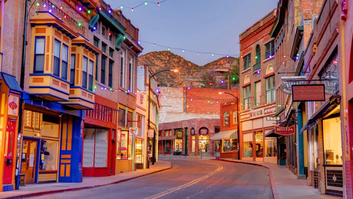
[(319, 110), (307, 121), (307, 123), (300, 129), (300, 135), (306, 130), (309, 129), (312, 125), (316, 124), (316, 121), (321, 117), (324, 112), (327, 112), (330, 107), (338, 104), (340, 101), (341, 96), (339, 95), (332, 95), (320, 108)]

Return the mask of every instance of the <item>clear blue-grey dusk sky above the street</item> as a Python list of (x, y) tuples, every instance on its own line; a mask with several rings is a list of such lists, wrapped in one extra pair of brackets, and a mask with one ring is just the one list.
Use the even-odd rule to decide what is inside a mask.
[[(167, 0), (160, 6), (144, 0), (105, 0), (112, 8), (125, 5), (123, 15), (139, 28), (140, 54), (168, 50), (155, 44), (196, 52), (239, 55), (239, 34), (277, 7), (278, 0)], [(185, 59), (204, 65), (221, 55), (171, 52)], [(238, 56), (236, 56), (238, 57)]]

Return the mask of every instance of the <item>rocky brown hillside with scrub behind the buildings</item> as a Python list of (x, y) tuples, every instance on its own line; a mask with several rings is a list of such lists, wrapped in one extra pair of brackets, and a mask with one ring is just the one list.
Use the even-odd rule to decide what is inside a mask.
[(177, 68), (179, 70), (178, 73), (161, 73), (156, 76), (161, 84), (178, 86), (183, 79), (200, 79), (201, 73), (205, 70), (213, 70), (224, 66), (229, 67), (235, 64), (237, 59), (235, 57), (222, 57), (204, 66), (198, 66), (170, 51), (154, 51), (139, 56), (138, 66), (148, 64), (153, 73)]

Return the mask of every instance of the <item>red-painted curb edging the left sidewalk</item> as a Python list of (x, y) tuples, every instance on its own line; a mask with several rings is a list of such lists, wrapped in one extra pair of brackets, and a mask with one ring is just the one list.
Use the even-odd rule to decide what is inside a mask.
[(139, 176), (126, 178), (126, 179), (123, 179), (123, 180), (118, 180), (118, 181), (114, 181), (114, 182), (110, 182), (110, 183), (106, 183), (106, 184), (99, 184), (99, 185), (95, 185), (95, 186), (86, 186), (86, 187), (68, 188), (68, 189), (60, 189), (60, 190), (52, 190), (52, 191), (45, 191), (45, 192), (39, 192), (39, 193), (29, 193), (29, 194), (16, 195), (16, 196), (7, 197), (7, 198), (1, 198), (1, 199), (30, 198), (30, 197), (48, 195), (48, 194), (54, 194), (54, 193), (79, 191), (79, 190), (82, 190), (82, 189), (91, 189), (91, 188), (106, 186), (106, 185), (109, 185), (109, 184), (117, 184), (117, 183), (120, 183), (120, 182), (129, 181), (129, 180), (132, 180), (134, 178), (143, 177), (143, 176), (147, 176), (147, 175), (150, 175), (150, 174), (155, 174), (155, 173), (162, 172), (162, 171), (165, 171), (165, 170), (168, 170), (168, 169), (172, 169), (172, 168), (173, 168), (172, 163), (170, 163), (170, 167), (166, 168), (166, 169), (161, 169), (161, 170), (158, 170), (158, 171), (153, 171), (153, 172), (150, 172), (150, 173), (147, 173), (147, 174), (142, 174), (142, 175), (139, 175)]

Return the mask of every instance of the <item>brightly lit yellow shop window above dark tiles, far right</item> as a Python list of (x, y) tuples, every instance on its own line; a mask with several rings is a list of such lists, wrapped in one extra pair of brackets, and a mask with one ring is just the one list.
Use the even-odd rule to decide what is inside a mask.
[(341, 120), (337, 117), (322, 121), (325, 164), (342, 164)]

